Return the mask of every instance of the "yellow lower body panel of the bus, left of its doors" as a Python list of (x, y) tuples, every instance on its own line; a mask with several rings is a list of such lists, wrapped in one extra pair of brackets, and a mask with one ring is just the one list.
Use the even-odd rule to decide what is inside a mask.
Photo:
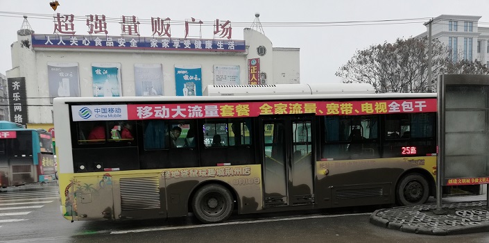
[(208, 183), (230, 188), (239, 213), (258, 212), (261, 180), (260, 165), (60, 174), (62, 214), (69, 220), (187, 216), (191, 194)]

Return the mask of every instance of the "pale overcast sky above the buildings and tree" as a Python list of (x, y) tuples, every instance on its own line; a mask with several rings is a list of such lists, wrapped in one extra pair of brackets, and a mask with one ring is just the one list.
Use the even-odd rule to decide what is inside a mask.
[[(120, 19), (136, 16), (141, 22), (141, 36), (152, 35), (151, 17), (169, 17), (172, 37), (184, 37), (184, 26), (177, 25), (194, 17), (214, 24), (216, 19), (229, 20), (232, 39), (243, 40), (243, 28), (250, 28), (259, 13), (259, 21), (273, 47), (300, 48), (300, 83), (341, 83), (335, 76), (358, 50), (372, 44), (395, 42), (427, 30), (423, 25), (439, 15), (481, 16), (479, 26), (489, 27), (488, 0), (302, 0), (302, 1), (121, 1), (121, 0), (0, 0), (0, 74), (12, 69), (10, 44), (17, 40), (23, 15), (37, 34), (51, 34), (53, 15), (73, 14), (77, 35), (87, 35), (86, 15), (105, 15)], [(486, 16), (483, 14), (486, 13)], [(396, 19), (403, 19), (397, 20)], [(119, 22), (119, 21), (117, 21)], [(272, 23), (281, 24), (272, 24)], [(316, 24), (304, 24), (313, 22)], [(339, 23), (338, 23), (339, 22)], [(317, 24), (323, 23), (323, 24)], [(336, 23), (336, 24), (334, 24)], [(119, 36), (120, 24), (108, 23), (108, 35)], [(198, 35), (191, 26), (189, 35)], [(212, 26), (203, 26), (202, 37), (213, 37)]]

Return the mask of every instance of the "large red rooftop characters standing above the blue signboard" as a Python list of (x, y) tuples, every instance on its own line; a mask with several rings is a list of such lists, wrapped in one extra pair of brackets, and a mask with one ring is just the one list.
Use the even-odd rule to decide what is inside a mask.
[[(88, 26), (88, 33), (92, 35), (93, 33), (103, 33), (108, 35), (107, 30), (107, 22), (105, 21), (105, 15), (87, 15), (86, 16), (86, 26)], [(67, 34), (67, 35), (75, 35), (75, 24), (74, 19), (75, 16), (70, 15), (62, 15), (59, 12), (54, 15), (54, 33)], [(151, 31), (153, 35), (157, 36), (167, 36), (171, 37), (171, 29), (170, 29), (170, 18), (160, 18), (160, 17), (151, 17)], [(121, 17), (121, 35), (131, 35), (131, 36), (139, 36), (139, 20), (136, 16), (122, 16)], [(191, 22), (185, 20), (185, 38), (189, 35), (189, 24), (198, 24), (199, 27), (204, 24), (201, 20), (196, 21), (194, 17), (191, 18)], [(199, 31), (199, 35), (201, 31)], [(231, 39), (232, 35), (232, 27), (231, 22), (229, 20), (223, 22), (219, 19), (216, 19), (214, 22), (214, 36), (218, 35), (221, 38)], [(202, 38), (202, 36), (200, 36)]]

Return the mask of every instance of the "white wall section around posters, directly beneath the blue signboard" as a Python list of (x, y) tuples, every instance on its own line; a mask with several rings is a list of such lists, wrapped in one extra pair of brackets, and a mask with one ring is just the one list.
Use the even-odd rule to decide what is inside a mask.
[[(134, 65), (137, 63), (156, 63), (163, 65), (163, 92), (165, 96), (175, 96), (175, 64), (201, 65), (203, 87), (214, 84), (214, 65), (239, 65), (241, 84), (247, 83), (248, 69), (245, 54), (189, 54), (135, 52), (135, 51), (37, 51), (37, 82), (48, 84), (47, 62), (78, 62), (80, 96), (92, 97), (92, 62), (121, 63), (122, 95), (135, 96)], [(49, 97), (46, 86), (41, 94)]]

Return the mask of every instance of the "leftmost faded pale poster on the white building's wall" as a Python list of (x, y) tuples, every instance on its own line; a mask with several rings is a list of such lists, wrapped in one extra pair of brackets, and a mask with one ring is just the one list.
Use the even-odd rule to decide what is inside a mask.
[(48, 62), (49, 96), (80, 97), (78, 62)]

